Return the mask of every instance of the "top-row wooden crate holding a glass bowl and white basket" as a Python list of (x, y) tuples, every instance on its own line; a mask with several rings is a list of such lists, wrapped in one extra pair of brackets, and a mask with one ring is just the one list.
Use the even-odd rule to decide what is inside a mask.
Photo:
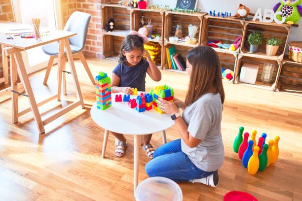
[[(198, 31), (195, 35), (195, 37), (198, 39), (198, 42), (196, 45), (193, 45), (193, 46), (198, 46), (200, 43), (202, 20), (204, 15), (206, 15), (206, 13), (202, 13), (202, 12), (182, 13), (182, 12), (175, 12), (175, 11), (166, 11), (165, 26), (164, 26), (164, 41), (169, 42), (169, 37), (174, 36), (177, 25), (182, 25), (183, 37), (189, 35), (188, 26), (189, 24), (191, 24), (198, 27)], [(191, 44), (178, 43), (178, 42), (176, 43), (182, 46), (192, 47)]]

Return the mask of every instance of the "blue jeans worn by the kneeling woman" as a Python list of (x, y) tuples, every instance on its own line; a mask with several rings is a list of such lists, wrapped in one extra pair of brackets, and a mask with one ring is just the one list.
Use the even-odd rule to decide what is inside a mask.
[(174, 181), (200, 179), (214, 173), (203, 171), (191, 162), (188, 155), (182, 152), (181, 139), (158, 147), (145, 169), (149, 177), (162, 176)]

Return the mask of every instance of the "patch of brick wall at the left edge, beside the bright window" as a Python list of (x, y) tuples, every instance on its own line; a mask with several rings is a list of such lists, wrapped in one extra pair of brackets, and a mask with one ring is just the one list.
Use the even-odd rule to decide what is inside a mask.
[[(10, 0), (0, 0), (0, 20), (1, 21), (14, 21), (14, 14)], [(2, 49), (0, 45), (0, 77), (3, 77), (2, 70)]]

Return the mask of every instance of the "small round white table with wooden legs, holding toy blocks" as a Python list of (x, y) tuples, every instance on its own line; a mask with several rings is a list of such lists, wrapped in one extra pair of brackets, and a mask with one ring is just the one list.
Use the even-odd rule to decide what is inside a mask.
[[(138, 92), (138, 95), (142, 92)], [(123, 93), (121, 94), (123, 98)], [(139, 139), (141, 135), (163, 132), (174, 125), (170, 115), (159, 114), (154, 109), (145, 112), (138, 112), (135, 108), (130, 108), (128, 102), (115, 102), (115, 95), (112, 94), (112, 106), (106, 110), (97, 108), (96, 102), (92, 105), (90, 115), (92, 120), (105, 129), (102, 158), (105, 156), (109, 131), (119, 134), (131, 134), (134, 136), (134, 176), (133, 193), (138, 185), (138, 163), (139, 163)], [(130, 96), (134, 99), (136, 96)], [(165, 139), (163, 139), (165, 141)]]

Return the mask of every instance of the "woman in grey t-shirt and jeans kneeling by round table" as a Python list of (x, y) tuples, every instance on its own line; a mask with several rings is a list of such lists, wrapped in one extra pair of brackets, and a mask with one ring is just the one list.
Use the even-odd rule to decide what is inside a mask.
[(193, 48), (187, 55), (186, 71), (190, 82), (185, 102), (160, 100), (161, 110), (172, 115), (181, 138), (157, 148), (146, 172), (150, 177), (217, 186), (218, 169), (224, 162), (221, 118), (225, 100), (219, 57), (211, 47)]

